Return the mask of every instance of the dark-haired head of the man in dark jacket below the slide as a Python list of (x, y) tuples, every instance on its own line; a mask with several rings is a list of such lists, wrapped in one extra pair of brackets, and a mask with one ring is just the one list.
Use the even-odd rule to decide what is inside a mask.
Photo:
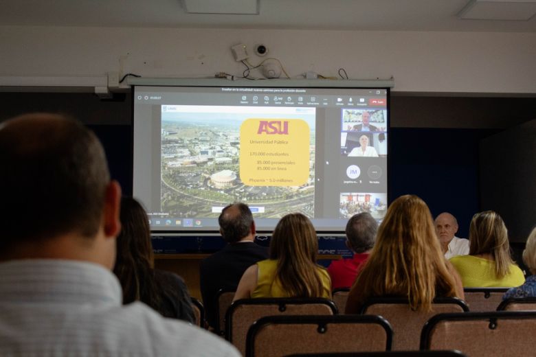
[(249, 238), (249, 240), (254, 238), (253, 214), (245, 203), (233, 203), (223, 208), (218, 223), (220, 234), (227, 243), (236, 243), (244, 238)]

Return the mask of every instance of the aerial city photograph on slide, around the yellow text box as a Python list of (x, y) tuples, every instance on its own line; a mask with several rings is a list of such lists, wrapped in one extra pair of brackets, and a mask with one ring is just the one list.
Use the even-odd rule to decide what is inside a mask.
[(297, 211), (313, 218), (314, 126), (309, 179), (304, 185), (249, 186), (241, 181), (239, 172), (240, 128), (245, 118), (186, 114), (162, 117), (162, 211), (175, 217), (217, 218), (221, 207), (241, 201), (261, 207), (255, 214), (258, 218), (280, 218)]

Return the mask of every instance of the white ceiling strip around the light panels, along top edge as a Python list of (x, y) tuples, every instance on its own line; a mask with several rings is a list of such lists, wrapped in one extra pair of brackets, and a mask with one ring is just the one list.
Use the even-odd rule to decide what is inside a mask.
[[(221, 0), (224, 1), (224, 0)], [(1, 25), (536, 32), (528, 21), (465, 20), (469, 0), (258, 0), (260, 14), (187, 14), (181, 0), (0, 0)], [(493, 0), (515, 6), (527, 0)], [(519, 4), (517, 4), (519, 5)]]

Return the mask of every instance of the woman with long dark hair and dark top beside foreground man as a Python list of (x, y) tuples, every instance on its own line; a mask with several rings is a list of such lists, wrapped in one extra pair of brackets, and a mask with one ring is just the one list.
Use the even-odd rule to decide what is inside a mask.
[(131, 197), (121, 199), (121, 232), (113, 273), (123, 290), (123, 303), (142, 301), (162, 316), (195, 322), (192, 299), (179, 275), (156, 270), (145, 209)]

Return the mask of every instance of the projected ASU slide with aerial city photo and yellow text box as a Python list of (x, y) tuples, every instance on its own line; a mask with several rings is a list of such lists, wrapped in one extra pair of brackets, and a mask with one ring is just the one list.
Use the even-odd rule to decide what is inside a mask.
[(244, 109), (162, 106), (162, 211), (210, 218), (243, 201), (259, 218), (313, 217), (315, 109)]

